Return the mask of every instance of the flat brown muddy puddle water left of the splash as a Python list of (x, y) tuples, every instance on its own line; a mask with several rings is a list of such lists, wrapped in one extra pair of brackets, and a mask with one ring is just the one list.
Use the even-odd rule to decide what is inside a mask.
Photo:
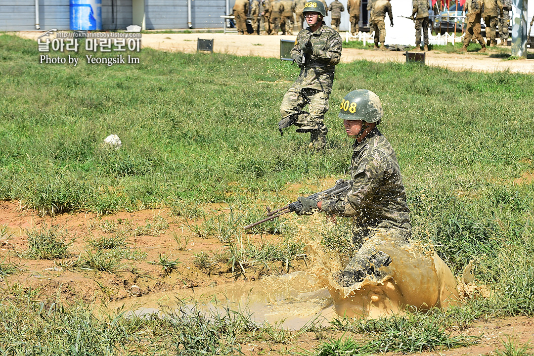
[(313, 319), (330, 319), (335, 315), (332, 298), (314, 275), (294, 272), (271, 276), (261, 281), (227, 283), (222, 286), (180, 289), (171, 292), (153, 293), (128, 302), (107, 305), (112, 311), (121, 308), (132, 310), (137, 315), (161, 314), (162, 310), (177, 307), (177, 300), (185, 300), (188, 307), (195, 304), (201, 310), (222, 311), (230, 308), (251, 314), (257, 323), (298, 330)]

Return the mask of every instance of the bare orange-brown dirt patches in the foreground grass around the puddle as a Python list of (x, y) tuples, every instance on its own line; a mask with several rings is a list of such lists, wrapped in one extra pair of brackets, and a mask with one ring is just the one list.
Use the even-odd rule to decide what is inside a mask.
[[(213, 213), (223, 211), (224, 207), (213, 207)], [(163, 218), (169, 224), (168, 228), (155, 236), (133, 234), (127, 239), (131, 250), (146, 253), (142, 261), (128, 261), (120, 273), (107, 272), (72, 272), (64, 268), (69, 260), (75, 260), (84, 254), (88, 241), (107, 234), (106, 222), (119, 223), (128, 226), (133, 231), (138, 226), (145, 226), (147, 221)], [(8, 284), (19, 283), (24, 288), (40, 291), (40, 298), (56, 297), (65, 300), (81, 298), (87, 303), (109, 303), (115, 305), (137, 305), (144, 297), (154, 296), (161, 300), (161, 295), (191, 294), (193, 290), (202, 287), (221, 286), (235, 283), (229, 266), (215, 264), (209, 270), (200, 270), (194, 264), (195, 254), (202, 251), (213, 253), (223, 249), (223, 244), (215, 238), (199, 238), (195, 236), (184, 219), (172, 215), (168, 209), (142, 210), (137, 212), (120, 212), (114, 216), (98, 217), (94, 213), (75, 213), (59, 215), (53, 218), (40, 217), (35, 211), (25, 209), (17, 201), (0, 202), (0, 229), (7, 226), (6, 233), (0, 239), (0, 261), (18, 264), (19, 272), (0, 279), (0, 288), (5, 289)], [(41, 227), (55, 226), (61, 231), (67, 231), (67, 242), (74, 241), (69, 251), (72, 256), (65, 260), (30, 260), (20, 257), (21, 252), (28, 248), (26, 232)], [(119, 227), (120, 228), (120, 227)], [(177, 240), (173, 237), (190, 238), (184, 250), (179, 249)], [(249, 236), (254, 239), (255, 236)], [(274, 236), (268, 236), (276, 242)], [(183, 240), (182, 240), (183, 241)], [(177, 270), (165, 275), (161, 266), (148, 262), (158, 261), (159, 256), (179, 259)], [(302, 261), (291, 263), (289, 272), (305, 271), (307, 267)], [(271, 265), (270, 271), (263, 267), (247, 268), (246, 283), (254, 283), (265, 274), (284, 274), (286, 266)], [(239, 283), (244, 283), (242, 278)], [(534, 318), (515, 317), (507, 319), (492, 319), (486, 322), (476, 322), (470, 328), (461, 332), (451, 330), (453, 334), (481, 336), (481, 341), (470, 347), (453, 350), (442, 350), (426, 354), (460, 356), (465, 354), (487, 355), (502, 349), (502, 341), (514, 338), (516, 345), (529, 343), (534, 348)], [(340, 336), (340, 335), (339, 335)], [(337, 337), (327, 335), (327, 337)], [(297, 338), (290, 345), (269, 344), (265, 342), (250, 343), (243, 346), (245, 354), (256, 355), (264, 352), (282, 354), (288, 350), (299, 351), (298, 348), (311, 349), (321, 340), (313, 333), (306, 333)], [(285, 350), (285, 351), (284, 351)]]

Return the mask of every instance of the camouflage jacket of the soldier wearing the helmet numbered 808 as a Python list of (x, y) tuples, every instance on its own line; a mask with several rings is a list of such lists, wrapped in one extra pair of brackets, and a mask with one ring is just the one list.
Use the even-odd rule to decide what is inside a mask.
[(356, 217), (359, 226), (410, 230), (406, 191), (389, 141), (374, 129), (353, 147), (351, 191), (339, 199), (323, 201), (321, 210)]

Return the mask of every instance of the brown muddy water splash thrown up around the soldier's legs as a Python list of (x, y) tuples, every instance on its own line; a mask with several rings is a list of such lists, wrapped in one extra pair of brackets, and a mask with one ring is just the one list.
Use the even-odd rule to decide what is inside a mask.
[(333, 278), (344, 267), (340, 257), (325, 252), (320, 240), (310, 239), (310, 233), (301, 236), (308, 236), (305, 239), (308, 252), (314, 257), (313, 272), (327, 286), (340, 316), (379, 318), (402, 314), (409, 308), (446, 308), (459, 302), (454, 275), (428, 246), (399, 244), (387, 232), (379, 231), (367, 243), (386, 252), (391, 264), (379, 268), (380, 279), (367, 276), (350, 287), (342, 287)]

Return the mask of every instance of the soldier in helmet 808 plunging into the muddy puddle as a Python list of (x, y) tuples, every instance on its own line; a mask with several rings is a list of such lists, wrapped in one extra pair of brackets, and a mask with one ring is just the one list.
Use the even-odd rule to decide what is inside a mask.
[(397, 246), (403, 246), (411, 235), (410, 210), (397, 157), (376, 127), (382, 115), (380, 99), (372, 91), (359, 89), (348, 93), (341, 101), (339, 117), (347, 136), (355, 139), (351, 190), (334, 200), (317, 202), (299, 197), (303, 212), (318, 209), (331, 215), (354, 217), (358, 233), (353, 242), (362, 247), (339, 275), (344, 287), (366, 277), (380, 279), (378, 268), (391, 263), (386, 252), (375, 248), (380, 240), (377, 233), (387, 234)]

